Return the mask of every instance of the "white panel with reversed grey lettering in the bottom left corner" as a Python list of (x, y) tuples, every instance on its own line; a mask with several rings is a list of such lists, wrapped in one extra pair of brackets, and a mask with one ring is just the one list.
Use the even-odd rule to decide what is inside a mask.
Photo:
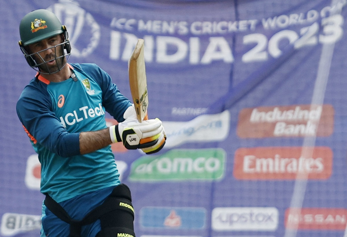
[(1, 218), (2, 236), (15, 236), (36, 229), (41, 229), (41, 216), (5, 213)]

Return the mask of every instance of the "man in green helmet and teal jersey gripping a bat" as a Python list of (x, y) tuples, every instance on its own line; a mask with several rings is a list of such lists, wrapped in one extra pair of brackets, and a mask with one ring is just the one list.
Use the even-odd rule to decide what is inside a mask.
[[(68, 63), (68, 32), (52, 12), (29, 12), (19, 33), (37, 71), (17, 114), (41, 163), (41, 236), (135, 236), (130, 190), (119, 181), (110, 144), (158, 152), (162, 122), (138, 122), (132, 102), (98, 65)], [(107, 127), (105, 112), (119, 123)]]

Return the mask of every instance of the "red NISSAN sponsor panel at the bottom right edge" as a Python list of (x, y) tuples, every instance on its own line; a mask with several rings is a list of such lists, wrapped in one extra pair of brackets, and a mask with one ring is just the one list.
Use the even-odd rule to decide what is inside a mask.
[(288, 208), (285, 227), (288, 229), (344, 230), (347, 209), (342, 208)]

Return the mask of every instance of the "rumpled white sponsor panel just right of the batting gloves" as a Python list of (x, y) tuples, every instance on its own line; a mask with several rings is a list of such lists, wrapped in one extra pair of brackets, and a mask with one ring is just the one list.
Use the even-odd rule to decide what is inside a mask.
[(167, 140), (165, 148), (186, 142), (213, 142), (225, 140), (229, 134), (230, 113), (204, 114), (187, 122), (163, 122)]

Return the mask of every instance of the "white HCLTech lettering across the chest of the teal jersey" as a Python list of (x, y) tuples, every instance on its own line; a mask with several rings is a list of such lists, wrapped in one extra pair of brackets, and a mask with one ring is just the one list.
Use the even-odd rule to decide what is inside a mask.
[(61, 125), (66, 128), (66, 125), (74, 125), (75, 123), (81, 122), (84, 119), (88, 119), (90, 117), (102, 116), (105, 112), (102, 109), (101, 103), (99, 103), (98, 107), (90, 108), (88, 106), (83, 106), (73, 112), (67, 113), (65, 116), (60, 116)]

